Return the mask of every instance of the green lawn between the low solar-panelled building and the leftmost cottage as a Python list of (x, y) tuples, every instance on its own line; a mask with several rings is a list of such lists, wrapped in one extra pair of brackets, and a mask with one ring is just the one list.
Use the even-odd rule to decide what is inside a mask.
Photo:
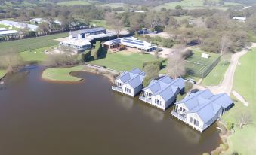
[(121, 51), (117, 53), (107, 53), (106, 58), (89, 62), (93, 65), (105, 66), (117, 71), (130, 71), (133, 68), (142, 69), (143, 62), (153, 61), (156, 58), (150, 54), (132, 53)]

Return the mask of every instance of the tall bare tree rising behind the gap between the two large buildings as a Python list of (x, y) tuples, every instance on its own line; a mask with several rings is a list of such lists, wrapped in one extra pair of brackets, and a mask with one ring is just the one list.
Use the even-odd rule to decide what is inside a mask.
[(122, 19), (119, 19), (113, 12), (106, 12), (105, 20), (106, 24), (115, 30), (117, 38), (119, 38), (123, 26)]

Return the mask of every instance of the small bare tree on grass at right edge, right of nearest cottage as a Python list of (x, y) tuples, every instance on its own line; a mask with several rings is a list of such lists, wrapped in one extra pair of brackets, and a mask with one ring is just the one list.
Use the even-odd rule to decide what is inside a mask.
[(248, 111), (239, 113), (236, 117), (236, 120), (240, 129), (242, 129), (243, 126), (253, 123), (251, 113)]

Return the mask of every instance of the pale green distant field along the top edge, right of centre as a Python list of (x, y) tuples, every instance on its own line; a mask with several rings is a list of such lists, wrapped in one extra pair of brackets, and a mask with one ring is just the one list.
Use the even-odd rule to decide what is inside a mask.
[(180, 5), (183, 9), (215, 8), (215, 9), (227, 10), (228, 8), (230, 8), (230, 6), (241, 5), (238, 3), (225, 2), (224, 5), (222, 6), (208, 7), (208, 6), (204, 6), (203, 2), (204, 2), (203, 0), (183, 0), (182, 2), (169, 2), (169, 3), (165, 3), (164, 5), (157, 6), (156, 10), (159, 10), (161, 8), (175, 9), (177, 5)]

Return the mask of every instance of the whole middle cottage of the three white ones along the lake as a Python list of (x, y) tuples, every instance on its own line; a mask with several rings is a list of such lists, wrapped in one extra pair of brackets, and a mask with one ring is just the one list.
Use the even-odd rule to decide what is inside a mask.
[(175, 80), (168, 76), (153, 80), (148, 87), (145, 87), (140, 95), (140, 100), (150, 105), (165, 110), (174, 104), (178, 93), (183, 93), (185, 82), (183, 78)]

